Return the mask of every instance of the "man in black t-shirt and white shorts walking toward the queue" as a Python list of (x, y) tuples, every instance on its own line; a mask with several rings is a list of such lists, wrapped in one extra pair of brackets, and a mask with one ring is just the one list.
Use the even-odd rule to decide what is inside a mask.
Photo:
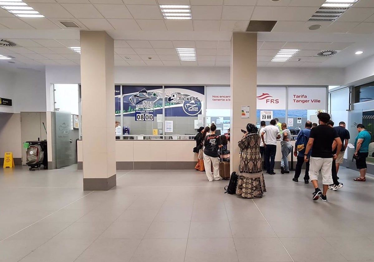
[[(341, 150), (341, 140), (334, 128), (327, 125), (330, 120), (328, 113), (319, 113), (317, 115), (319, 126), (310, 130), (310, 137), (306, 150), (304, 153), (304, 161), (308, 162), (309, 150), (313, 147), (312, 155), (310, 156), (310, 169), (309, 176), (313, 183), (315, 192), (313, 193), (313, 200), (317, 200), (320, 196), (322, 201), (327, 201), (326, 193), (328, 186), (333, 183), (332, 181), (332, 159), (336, 159)], [(332, 154), (332, 143), (334, 140), (337, 143), (337, 153)], [(321, 170), (323, 193), (318, 188), (318, 173)]]

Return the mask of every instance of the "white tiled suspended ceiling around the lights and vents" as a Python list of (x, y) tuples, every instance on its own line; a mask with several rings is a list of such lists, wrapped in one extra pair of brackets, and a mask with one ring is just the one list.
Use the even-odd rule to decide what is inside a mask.
[[(80, 45), (79, 30), (58, 21), (106, 30), (115, 39), (116, 65), (229, 66), (232, 32), (245, 31), (251, 19), (278, 21), (272, 32), (258, 34), (260, 67), (346, 67), (374, 55), (374, 0), (360, 0), (335, 22), (308, 21), (325, 0), (24, 1), (46, 18), (17, 18), (0, 9), (0, 38), (18, 45), (0, 47), (0, 54), (15, 57), (15, 66), (79, 65), (79, 54), (68, 48)], [(165, 20), (159, 4), (191, 5), (193, 19)], [(310, 31), (313, 24), (322, 28)], [(196, 48), (197, 61), (179, 61), (175, 48)], [(301, 51), (288, 62), (270, 62), (282, 48)], [(341, 52), (316, 57), (323, 49)]]

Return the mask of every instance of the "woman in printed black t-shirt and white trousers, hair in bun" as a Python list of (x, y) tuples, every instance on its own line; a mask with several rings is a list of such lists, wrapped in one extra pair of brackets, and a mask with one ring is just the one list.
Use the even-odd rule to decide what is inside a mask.
[[(222, 147), (220, 135), (215, 134), (216, 126), (211, 125), (211, 134), (207, 135), (204, 140), (204, 166), (205, 174), (209, 181), (221, 180), (220, 176), (220, 154), (218, 150)], [(211, 165), (213, 164), (213, 174), (211, 172)]]

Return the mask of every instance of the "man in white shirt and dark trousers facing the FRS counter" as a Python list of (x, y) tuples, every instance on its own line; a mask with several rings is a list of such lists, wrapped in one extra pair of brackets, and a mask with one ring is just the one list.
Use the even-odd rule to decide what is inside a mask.
[[(281, 138), (281, 133), (279, 128), (275, 126), (276, 122), (274, 119), (270, 121), (270, 125), (267, 125), (261, 132), (261, 140), (265, 147), (265, 165), (266, 173), (275, 175), (274, 164), (275, 164), (275, 154), (277, 151), (277, 139)], [(266, 134), (266, 140), (264, 135)]]

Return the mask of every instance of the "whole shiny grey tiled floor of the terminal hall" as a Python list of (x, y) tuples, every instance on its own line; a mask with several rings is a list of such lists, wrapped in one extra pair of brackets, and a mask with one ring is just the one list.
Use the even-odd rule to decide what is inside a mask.
[(119, 171), (83, 192), (76, 166), (0, 170), (0, 262), (374, 261), (374, 178), (328, 202), (291, 174), (266, 175), (261, 199), (223, 194), (193, 171)]

